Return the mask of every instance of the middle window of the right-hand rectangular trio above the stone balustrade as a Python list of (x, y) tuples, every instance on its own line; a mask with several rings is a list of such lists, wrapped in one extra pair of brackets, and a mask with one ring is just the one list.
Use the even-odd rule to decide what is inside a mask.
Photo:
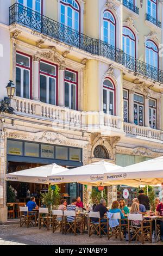
[(134, 123), (144, 125), (144, 97), (139, 94), (134, 94)]

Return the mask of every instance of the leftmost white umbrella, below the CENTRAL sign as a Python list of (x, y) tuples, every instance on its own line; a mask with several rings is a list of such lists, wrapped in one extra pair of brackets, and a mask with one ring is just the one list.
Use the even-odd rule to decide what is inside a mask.
[(8, 181), (31, 182), (40, 184), (49, 184), (47, 176), (68, 170), (65, 167), (58, 166), (56, 163), (40, 166), (36, 168), (20, 170), (19, 172), (9, 173), (6, 175)]

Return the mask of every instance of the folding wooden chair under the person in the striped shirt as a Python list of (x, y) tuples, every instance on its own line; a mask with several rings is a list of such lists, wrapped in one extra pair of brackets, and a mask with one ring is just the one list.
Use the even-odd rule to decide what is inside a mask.
[[(74, 217), (74, 221), (70, 222), (67, 221), (67, 217), (71, 216)], [(80, 227), (84, 224), (83, 218), (81, 217), (81, 222), (77, 221), (76, 217), (76, 211), (64, 211), (64, 233), (67, 234), (68, 232), (74, 233), (74, 235), (77, 235), (77, 231), (80, 229)], [(82, 232), (83, 234), (83, 232)]]

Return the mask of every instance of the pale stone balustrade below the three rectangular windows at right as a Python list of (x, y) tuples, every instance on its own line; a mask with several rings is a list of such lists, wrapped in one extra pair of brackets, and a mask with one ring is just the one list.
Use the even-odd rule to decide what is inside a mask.
[(139, 126), (130, 123), (123, 123), (123, 130), (126, 135), (140, 137), (143, 139), (156, 139), (163, 141), (163, 132), (151, 127)]

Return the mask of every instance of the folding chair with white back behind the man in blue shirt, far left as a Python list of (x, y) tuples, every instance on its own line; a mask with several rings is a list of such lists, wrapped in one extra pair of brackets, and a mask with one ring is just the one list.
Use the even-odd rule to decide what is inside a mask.
[[(33, 224), (33, 221), (35, 224)], [(20, 227), (25, 224), (27, 228), (29, 225), (36, 227), (36, 211), (28, 211), (28, 207), (20, 206)]]

